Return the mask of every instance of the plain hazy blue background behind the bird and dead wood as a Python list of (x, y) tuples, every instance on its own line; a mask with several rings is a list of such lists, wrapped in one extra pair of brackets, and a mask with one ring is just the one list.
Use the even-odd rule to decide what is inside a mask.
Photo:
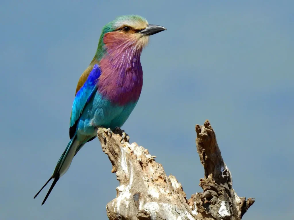
[(182, 183), (201, 192), (195, 124), (211, 121), (243, 219), (293, 219), (294, 1), (0, 2), (0, 219), (107, 219), (118, 186), (98, 140), (45, 205), (68, 141), (76, 83), (102, 26), (139, 14), (168, 31), (143, 51), (143, 91), (123, 125)]

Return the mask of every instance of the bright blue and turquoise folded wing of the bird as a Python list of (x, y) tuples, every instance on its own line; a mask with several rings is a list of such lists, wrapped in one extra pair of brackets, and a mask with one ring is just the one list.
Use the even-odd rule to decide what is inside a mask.
[(71, 109), (71, 119), (69, 128), (69, 137), (72, 138), (76, 132), (76, 126), (78, 119), (80, 118), (83, 109), (87, 105), (88, 101), (93, 94), (97, 91), (98, 78), (101, 75), (101, 70), (97, 64), (93, 66), (93, 69), (86, 78), (83, 86), (76, 93), (74, 103)]

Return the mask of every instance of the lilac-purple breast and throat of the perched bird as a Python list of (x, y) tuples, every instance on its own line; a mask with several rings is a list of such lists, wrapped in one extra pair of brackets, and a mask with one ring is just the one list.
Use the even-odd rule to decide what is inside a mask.
[(101, 59), (98, 92), (103, 98), (118, 105), (138, 101), (143, 86), (140, 55), (141, 51), (130, 48), (116, 56)]

